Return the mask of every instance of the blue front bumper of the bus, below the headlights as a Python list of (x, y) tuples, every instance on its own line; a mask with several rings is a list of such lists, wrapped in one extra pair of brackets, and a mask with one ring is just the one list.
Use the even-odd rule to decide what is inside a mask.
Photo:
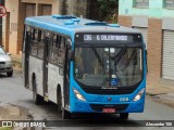
[(72, 99), (71, 113), (105, 113), (103, 109), (114, 109), (112, 113), (142, 113), (145, 99), (137, 102), (122, 103), (101, 103), (101, 102), (83, 102)]

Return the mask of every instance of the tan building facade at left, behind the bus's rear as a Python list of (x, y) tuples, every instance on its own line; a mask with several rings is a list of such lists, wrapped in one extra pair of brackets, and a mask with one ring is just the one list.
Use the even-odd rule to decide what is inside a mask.
[(25, 17), (59, 14), (59, 0), (4, 0), (4, 6), (2, 43), (12, 54), (21, 53)]

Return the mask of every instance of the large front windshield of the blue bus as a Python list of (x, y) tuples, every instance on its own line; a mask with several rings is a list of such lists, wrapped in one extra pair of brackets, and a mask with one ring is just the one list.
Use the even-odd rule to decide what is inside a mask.
[(130, 87), (142, 80), (139, 47), (75, 48), (75, 79), (86, 87)]

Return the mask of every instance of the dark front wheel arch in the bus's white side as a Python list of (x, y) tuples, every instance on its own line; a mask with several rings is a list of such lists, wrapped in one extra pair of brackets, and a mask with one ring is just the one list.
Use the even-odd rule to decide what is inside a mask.
[(58, 86), (57, 89), (57, 105), (58, 105), (58, 112), (62, 112), (62, 94), (61, 94), (61, 87)]

